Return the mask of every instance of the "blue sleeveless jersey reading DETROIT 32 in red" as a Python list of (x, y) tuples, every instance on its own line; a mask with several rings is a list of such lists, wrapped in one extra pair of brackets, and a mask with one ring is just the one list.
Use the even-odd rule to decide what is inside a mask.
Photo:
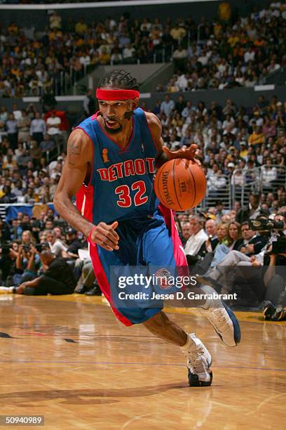
[(95, 224), (154, 214), (159, 203), (153, 190), (158, 151), (144, 111), (138, 108), (132, 115), (133, 132), (124, 149), (107, 136), (97, 115), (79, 124), (93, 143), (93, 171), (90, 184), (83, 187), (87, 198), (82, 213), (92, 213)]

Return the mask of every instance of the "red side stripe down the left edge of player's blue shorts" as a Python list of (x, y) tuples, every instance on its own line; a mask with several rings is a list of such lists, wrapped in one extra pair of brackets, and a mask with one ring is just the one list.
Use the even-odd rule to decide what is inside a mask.
[(131, 321), (128, 320), (128, 318), (122, 315), (122, 313), (120, 313), (113, 306), (111, 292), (110, 292), (110, 285), (107, 279), (107, 275), (105, 274), (102, 267), (102, 263), (100, 261), (97, 245), (93, 242), (90, 242), (89, 239), (88, 239), (88, 244), (89, 244), (89, 251), (90, 251), (90, 259), (93, 263), (93, 271), (95, 272), (98, 285), (100, 286), (100, 289), (102, 290), (104, 296), (109, 301), (109, 304), (111, 306), (112, 311), (114, 312), (114, 315), (116, 315), (116, 318), (118, 318), (118, 320), (121, 321), (121, 323), (123, 323), (124, 325), (127, 325), (127, 326), (132, 325)]

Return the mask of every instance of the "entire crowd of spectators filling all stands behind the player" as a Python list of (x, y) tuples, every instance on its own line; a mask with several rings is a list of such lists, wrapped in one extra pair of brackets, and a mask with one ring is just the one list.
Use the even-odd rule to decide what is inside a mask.
[[(284, 264), (286, 254), (272, 252), (272, 241), (273, 235), (286, 234), (286, 102), (259, 96), (252, 107), (237, 106), (231, 99), (225, 105), (194, 104), (185, 100), (184, 91), (252, 86), (283, 67), (285, 4), (271, 4), (238, 20), (202, 18), (199, 25), (191, 18), (131, 21), (128, 14), (91, 25), (81, 18), (62, 22), (58, 12), (47, 19), (41, 32), (13, 22), (0, 30), (0, 97), (44, 97), (43, 112), (32, 104), (21, 110), (14, 104), (10, 112), (0, 109), (0, 203), (34, 205), (6, 212), (6, 222), (0, 220), (1, 284), (24, 294), (100, 294), (84, 254), (86, 238), (59, 219), (50, 204), (65, 162), (68, 131), (64, 112), (55, 110), (53, 79), (59, 72), (72, 70), (80, 77), (83, 68), (149, 63), (155, 57), (172, 58), (176, 74), (166, 86), (158, 86), (167, 92), (162, 100), (151, 109), (144, 102), (140, 106), (158, 116), (170, 150), (198, 145), (207, 178), (203, 204), (175, 214), (189, 266), (198, 275), (207, 271), (207, 282), (220, 290), (229, 279), (221, 285), (215, 273), (219, 264)], [(181, 95), (172, 100), (175, 91)], [(88, 91), (83, 116), (95, 110), (93, 92)], [(76, 124), (69, 125), (72, 129)], [(250, 223), (257, 216), (270, 217), (282, 227), (259, 233)], [(266, 278), (259, 275), (249, 284), (259, 286), (254, 289), (259, 302), (286, 306), (284, 280), (276, 275), (275, 280), (269, 273)], [(270, 313), (280, 318), (280, 313)]]

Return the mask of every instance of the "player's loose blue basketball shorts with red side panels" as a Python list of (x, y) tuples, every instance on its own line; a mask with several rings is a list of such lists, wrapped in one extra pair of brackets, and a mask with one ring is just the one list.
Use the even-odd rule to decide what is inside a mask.
[[(122, 273), (129, 272), (129, 266), (177, 268), (187, 266), (182, 242), (179, 239), (175, 221), (170, 209), (160, 205), (153, 216), (120, 221), (116, 228), (119, 235), (118, 251), (107, 251), (89, 241), (90, 258), (102, 293), (109, 301), (114, 314), (125, 325), (139, 324), (149, 320), (163, 308), (140, 300), (138, 306), (118, 305), (118, 282), (114, 287), (112, 267), (122, 267)], [(117, 289), (117, 291), (115, 289)]]

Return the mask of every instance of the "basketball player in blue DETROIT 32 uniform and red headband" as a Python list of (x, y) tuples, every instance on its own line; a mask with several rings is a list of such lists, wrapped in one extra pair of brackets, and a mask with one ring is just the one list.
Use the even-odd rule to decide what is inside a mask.
[[(116, 317), (125, 325), (142, 323), (179, 346), (187, 358), (189, 384), (209, 386), (210, 353), (194, 333), (186, 334), (168, 318), (163, 304), (116, 308), (111, 297), (111, 266), (186, 266), (172, 213), (154, 194), (153, 176), (168, 159), (193, 159), (197, 146), (175, 152), (163, 147), (161, 122), (137, 108), (138, 89), (136, 79), (124, 70), (113, 70), (102, 79), (97, 89), (100, 111), (69, 136), (55, 209), (88, 237), (97, 282)], [(78, 209), (71, 203), (74, 195)], [(207, 286), (202, 289), (210, 291)], [(236, 346), (240, 328), (231, 310), (214, 299), (199, 304), (222, 341)]]

